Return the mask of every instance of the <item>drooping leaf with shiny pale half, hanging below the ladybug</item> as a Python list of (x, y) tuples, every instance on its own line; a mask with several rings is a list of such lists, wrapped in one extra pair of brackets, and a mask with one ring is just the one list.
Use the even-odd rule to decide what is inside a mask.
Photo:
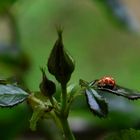
[(85, 94), (90, 110), (98, 117), (106, 117), (108, 114), (108, 104), (105, 99), (92, 88), (87, 88)]

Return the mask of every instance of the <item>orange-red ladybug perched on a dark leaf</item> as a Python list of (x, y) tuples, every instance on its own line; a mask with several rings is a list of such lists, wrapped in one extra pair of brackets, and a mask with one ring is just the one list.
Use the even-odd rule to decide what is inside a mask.
[(115, 87), (115, 80), (112, 77), (103, 77), (97, 81), (97, 86), (100, 88), (113, 89)]

